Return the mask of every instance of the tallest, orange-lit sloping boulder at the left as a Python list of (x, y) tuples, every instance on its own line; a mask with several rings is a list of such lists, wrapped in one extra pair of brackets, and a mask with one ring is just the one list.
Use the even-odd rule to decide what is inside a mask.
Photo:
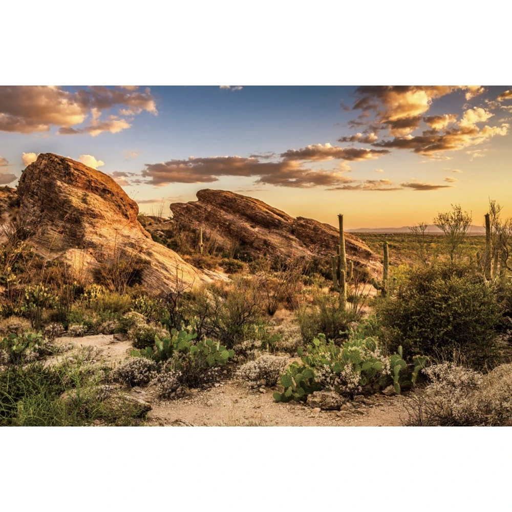
[(40, 154), (17, 187), (19, 210), (30, 244), (50, 259), (92, 272), (120, 259), (144, 262), (142, 284), (154, 292), (210, 279), (156, 242), (139, 224), (138, 205), (109, 176), (70, 158)]

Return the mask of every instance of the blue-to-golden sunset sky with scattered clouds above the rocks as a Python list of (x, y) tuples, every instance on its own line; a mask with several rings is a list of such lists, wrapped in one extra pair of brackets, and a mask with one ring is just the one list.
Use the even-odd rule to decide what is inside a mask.
[(511, 86), (0, 86), (0, 185), (39, 153), (167, 215), (203, 188), (347, 229), (512, 216)]

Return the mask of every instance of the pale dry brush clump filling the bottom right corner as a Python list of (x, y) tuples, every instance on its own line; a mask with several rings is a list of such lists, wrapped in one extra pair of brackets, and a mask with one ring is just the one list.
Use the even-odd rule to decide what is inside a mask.
[(423, 372), (432, 380), (412, 398), (408, 425), (512, 425), (512, 364), (486, 375), (445, 362)]

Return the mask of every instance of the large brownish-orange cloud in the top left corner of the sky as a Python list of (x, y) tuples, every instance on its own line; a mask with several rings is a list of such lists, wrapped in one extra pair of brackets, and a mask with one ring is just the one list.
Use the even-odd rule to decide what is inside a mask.
[[(131, 124), (115, 115), (100, 120), (103, 111), (117, 106), (124, 115), (158, 113), (150, 89), (141, 92), (95, 86), (69, 92), (54, 86), (0, 86), (0, 131), (48, 132), (55, 125), (60, 126), (58, 133), (63, 135), (117, 133)], [(89, 117), (88, 126), (73, 128)]]

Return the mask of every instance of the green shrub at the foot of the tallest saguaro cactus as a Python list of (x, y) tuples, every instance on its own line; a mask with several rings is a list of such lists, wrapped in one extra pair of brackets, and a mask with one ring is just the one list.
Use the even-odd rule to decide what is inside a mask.
[(305, 343), (311, 343), (319, 333), (340, 343), (348, 338), (350, 324), (357, 322), (360, 317), (359, 312), (340, 307), (335, 294), (317, 293), (311, 306), (305, 305), (297, 311), (297, 321)]

